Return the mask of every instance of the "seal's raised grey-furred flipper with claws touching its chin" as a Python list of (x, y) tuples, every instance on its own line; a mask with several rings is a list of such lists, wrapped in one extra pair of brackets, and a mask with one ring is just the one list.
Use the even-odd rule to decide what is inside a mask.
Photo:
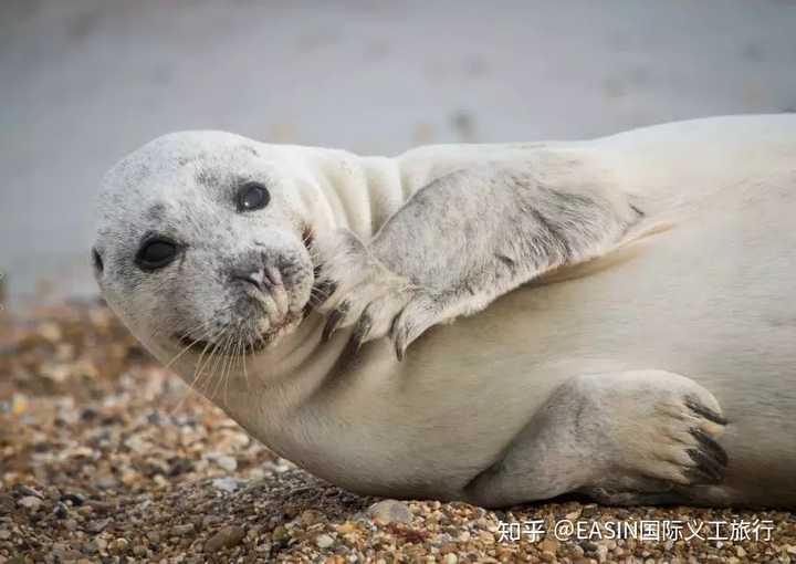
[(336, 290), (320, 306), (325, 336), (387, 334), (399, 358), (432, 325), (483, 310), (537, 275), (615, 249), (643, 213), (585, 152), (458, 170), (425, 186), (367, 244), (323, 241)]

